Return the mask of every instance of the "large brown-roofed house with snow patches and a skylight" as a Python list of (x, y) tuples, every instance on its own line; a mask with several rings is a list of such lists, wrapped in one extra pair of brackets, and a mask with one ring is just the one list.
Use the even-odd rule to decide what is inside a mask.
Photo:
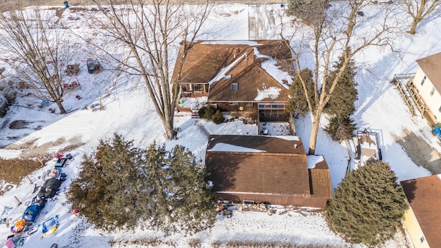
[(223, 112), (287, 121), (291, 76), (280, 68), (291, 64), (291, 52), (283, 41), (182, 43), (176, 65), (184, 47), (188, 49), (183, 66), (175, 66), (172, 76), (172, 83), (181, 86), (178, 107), (188, 98), (207, 97), (207, 103)]

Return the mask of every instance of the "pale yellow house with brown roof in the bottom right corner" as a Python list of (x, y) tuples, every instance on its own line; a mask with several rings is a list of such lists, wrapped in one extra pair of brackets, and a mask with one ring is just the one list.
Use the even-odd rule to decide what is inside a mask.
[(441, 174), (400, 183), (410, 204), (403, 221), (413, 247), (440, 247)]

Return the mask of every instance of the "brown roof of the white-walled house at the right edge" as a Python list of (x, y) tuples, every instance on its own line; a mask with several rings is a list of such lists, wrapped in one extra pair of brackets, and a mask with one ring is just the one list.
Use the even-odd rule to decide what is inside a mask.
[(418, 59), (416, 63), (441, 94), (441, 52)]

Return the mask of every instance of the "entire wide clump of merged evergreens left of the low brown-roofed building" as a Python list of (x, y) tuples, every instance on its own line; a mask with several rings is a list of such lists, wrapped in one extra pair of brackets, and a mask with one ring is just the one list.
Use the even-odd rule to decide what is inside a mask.
[(167, 151), (154, 143), (142, 150), (115, 134), (100, 141), (82, 165), (68, 200), (98, 228), (192, 234), (214, 223), (207, 172), (185, 147)]

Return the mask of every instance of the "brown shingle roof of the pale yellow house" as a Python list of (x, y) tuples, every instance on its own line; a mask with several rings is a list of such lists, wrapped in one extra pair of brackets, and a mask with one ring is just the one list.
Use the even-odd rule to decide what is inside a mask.
[(441, 174), (400, 182), (413, 213), (432, 247), (441, 244)]

